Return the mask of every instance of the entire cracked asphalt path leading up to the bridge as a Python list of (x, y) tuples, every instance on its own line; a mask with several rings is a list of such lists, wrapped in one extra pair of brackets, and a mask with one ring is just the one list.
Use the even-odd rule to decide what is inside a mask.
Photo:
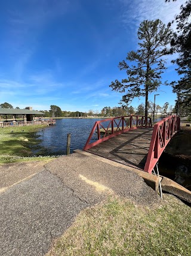
[(7, 172), (2, 165), (0, 175), (1, 256), (45, 255), (82, 209), (111, 193), (149, 207), (160, 203), (137, 174), (79, 153)]

